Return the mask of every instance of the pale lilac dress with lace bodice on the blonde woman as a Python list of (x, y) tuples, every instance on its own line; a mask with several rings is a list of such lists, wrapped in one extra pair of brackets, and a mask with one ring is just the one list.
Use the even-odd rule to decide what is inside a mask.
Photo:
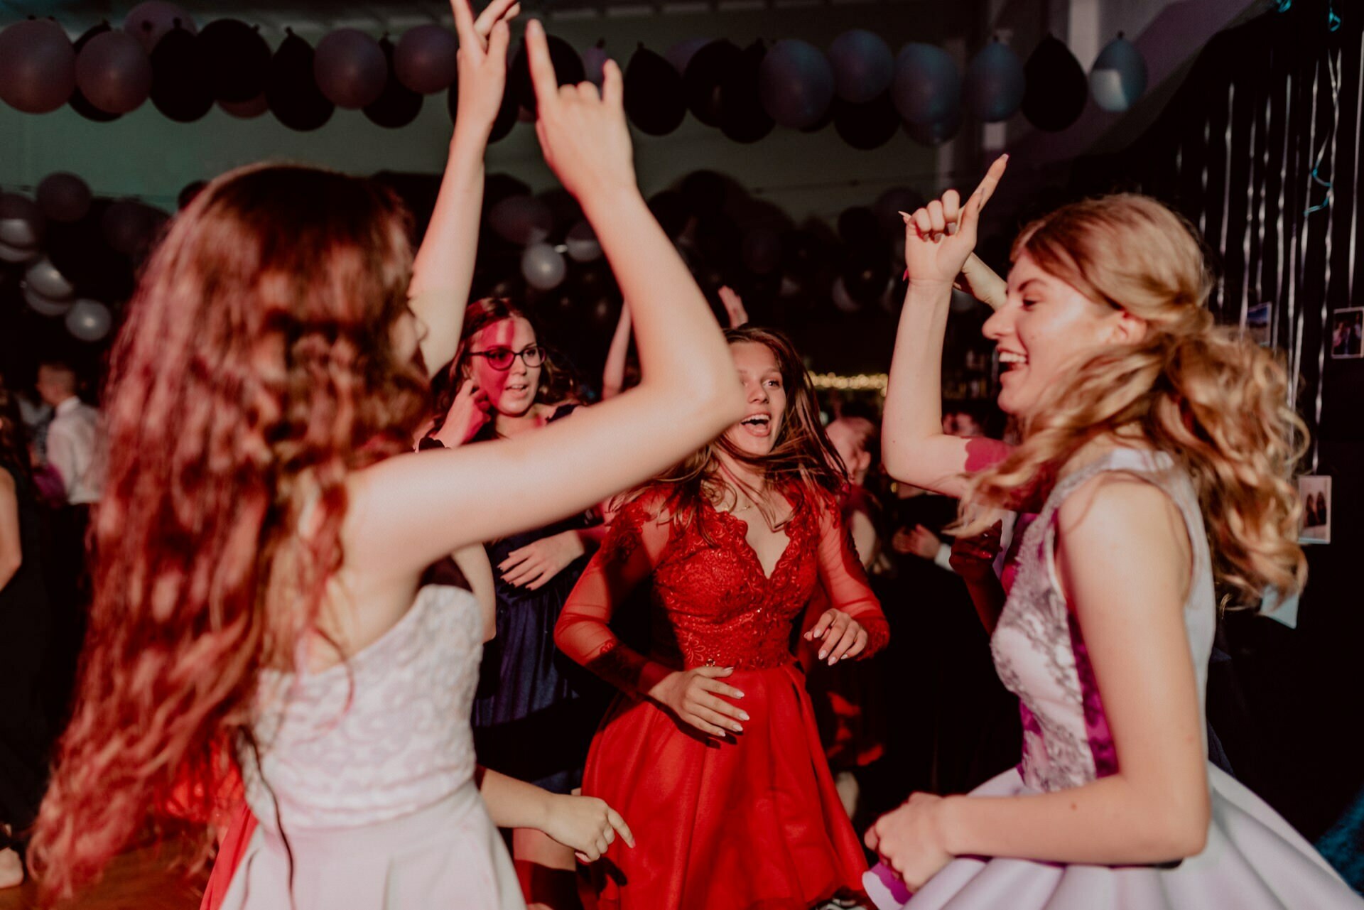
[[(1159, 487), (1184, 516), (1194, 547), (1184, 621), (1199, 692), (1206, 689), (1217, 602), (1198, 497), (1169, 456), (1120, 449), (1058, 483), (1023, 538), (1018, 580), (990, 640), (1000, 678), (1022, 703), (1023, 760), (971, 795), (1052, 793), (1117, 771), (1088, 652), (1052, 561), (1057, 509), (1103, 471), (1123, 471)], [(907, 903), (891, 898), (880, 881), (869, 881), (868, 891), (883, 910), (1364, 910), (1364, 899), (1264, 801), (1211, 764), (1207, 774), (1213, 798), (1207, 846), (1177, 865), (959, 857)]]

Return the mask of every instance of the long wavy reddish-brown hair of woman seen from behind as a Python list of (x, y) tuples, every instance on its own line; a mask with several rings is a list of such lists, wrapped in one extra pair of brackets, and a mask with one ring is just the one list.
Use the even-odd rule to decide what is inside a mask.
[(396, 196), (303, 166), (218, 177), (149, 261), (112, 356), (79, 700), (30, 851), (49, 896), (177, 784), (207, 817), (217, 746), (315, 628), (346, 476), (409, 450), (426, 412), (391, 340), (411, 267)]

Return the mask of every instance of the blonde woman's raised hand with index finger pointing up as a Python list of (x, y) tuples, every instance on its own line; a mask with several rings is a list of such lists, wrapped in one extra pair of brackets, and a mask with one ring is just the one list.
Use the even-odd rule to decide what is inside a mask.
[(904, 265), (910, 282), (958, 281), (975, 248), (981, 210), (994, 194), (1007, 165), (1008, 156), (1000, 156), (966, 205), (962, 205), (956, 190), (948, 190), (941, 199), (934, 199), (914, 214), (900, 213), (904, 218)]

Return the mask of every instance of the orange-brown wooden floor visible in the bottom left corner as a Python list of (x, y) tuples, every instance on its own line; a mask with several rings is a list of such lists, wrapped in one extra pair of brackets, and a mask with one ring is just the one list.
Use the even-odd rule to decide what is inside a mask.
[[(183, 869), (169, 869), (177, 855), (175, 845), (160, 850), (143, 847), (117, 857), (104, 879), (60, 910), (198, 910), (207, 873), (184, 877)], [(26, 881), (19, 888), (0, 891), (0, 910), (35, 909), (37, 888)]]

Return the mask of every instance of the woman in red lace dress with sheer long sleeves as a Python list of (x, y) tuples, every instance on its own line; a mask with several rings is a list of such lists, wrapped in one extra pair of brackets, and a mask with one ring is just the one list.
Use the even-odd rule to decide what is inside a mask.
[[(847, 472), (799, 356), (772, 330), (726, 337), (745, 415), (626, 497), (555, 630), (621, 689), (582, 793), (638, 836), (592, 869), (596, 907), (803, 909), (855, 895), (866, 869), (792, 640), (807, 663), (833, 666), (884, 647), (885, 617), (843, 525)], [(644, 581), (648, 655), (608, 625)]]

